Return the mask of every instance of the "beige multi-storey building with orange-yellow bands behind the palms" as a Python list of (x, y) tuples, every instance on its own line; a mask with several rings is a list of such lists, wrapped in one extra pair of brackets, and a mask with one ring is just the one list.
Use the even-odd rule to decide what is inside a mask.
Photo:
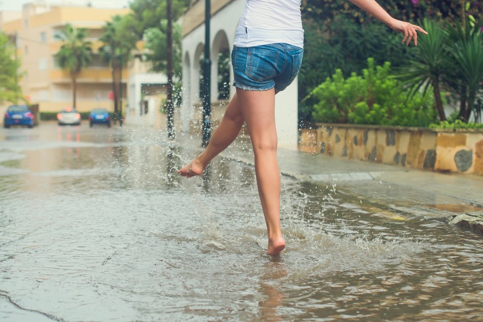
[[(115, 15), (127, 14), (129, 10), (35, 2), (24, 5), (21, 12), (0, 12), (0, 30), (16, 43), (17, 55), (21, 59), (20, 72), (23, 73), (20, 85), (29, 102), (38, 103), (41, 112), (57, 112), (72, 106), (69, 73), (60, 69), (54, 58), (62, 44), (55, 39), (55, 35), (63, 30), (66, 23), (71, 23), (88, 30), (86, 40), (92, 42), (94, 52), (90, 66), (83, 69), (78, 78), (77, 109), (86, 112), (95, 107), (104, 107), (112, 111), (113, 102), (109, 99), (112, 91), (111, 71), (98, 54), (102, 45), (98, 39), (106, 21)], [(127, 96), (128, 78), (129, 70), (126, 68), (122, 81), (124, 98)]]

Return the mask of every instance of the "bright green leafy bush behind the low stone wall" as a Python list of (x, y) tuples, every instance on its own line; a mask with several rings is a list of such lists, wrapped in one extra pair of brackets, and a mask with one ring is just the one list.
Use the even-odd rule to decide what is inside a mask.
[(390, 76), (390, 63), (374, 67), (367, 60), (362, 76), (344, 79), (338, 69), (315, 88), (304, 101), (314, 103), (315, 121), (398, 126), (427, 126), (436, 121), (430, 95), (412, 97), (402, 83)]

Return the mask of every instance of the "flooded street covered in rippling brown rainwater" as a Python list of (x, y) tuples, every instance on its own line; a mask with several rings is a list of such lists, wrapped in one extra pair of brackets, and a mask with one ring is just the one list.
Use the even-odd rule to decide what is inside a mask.
[(0, 320), (483, 319), (481, 235), (282, 176), (272, 258), (253, 167), (220, 157), (181, 178), (196, 151), (178, 143), (0, 129)]

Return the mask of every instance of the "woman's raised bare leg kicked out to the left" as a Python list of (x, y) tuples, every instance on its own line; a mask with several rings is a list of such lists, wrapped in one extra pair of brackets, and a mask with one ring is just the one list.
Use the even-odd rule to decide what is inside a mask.
[(235, 94), (228, 103), (225, 114), (213, 132), (206, 149), (193, 161), (178, 170), (178, 173), (187, 178), (201, 175), (208, 163), (235, 141), (243, 126), (243, 121), (240, 102)]

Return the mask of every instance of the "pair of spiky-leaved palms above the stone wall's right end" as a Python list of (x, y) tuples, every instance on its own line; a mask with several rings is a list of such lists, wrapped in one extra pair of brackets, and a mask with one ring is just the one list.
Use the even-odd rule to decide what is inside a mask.
[(464, 23), (423, 20), (428, 35), (420, 38), (413, 59), (399, 78), (413, 91), (427, 92), (432, 85), (440, 119), (445, 121), (442, 92), (459, 102), (458, 119), (468, 121), (481, 111), (483, 95), (482, 21)]

